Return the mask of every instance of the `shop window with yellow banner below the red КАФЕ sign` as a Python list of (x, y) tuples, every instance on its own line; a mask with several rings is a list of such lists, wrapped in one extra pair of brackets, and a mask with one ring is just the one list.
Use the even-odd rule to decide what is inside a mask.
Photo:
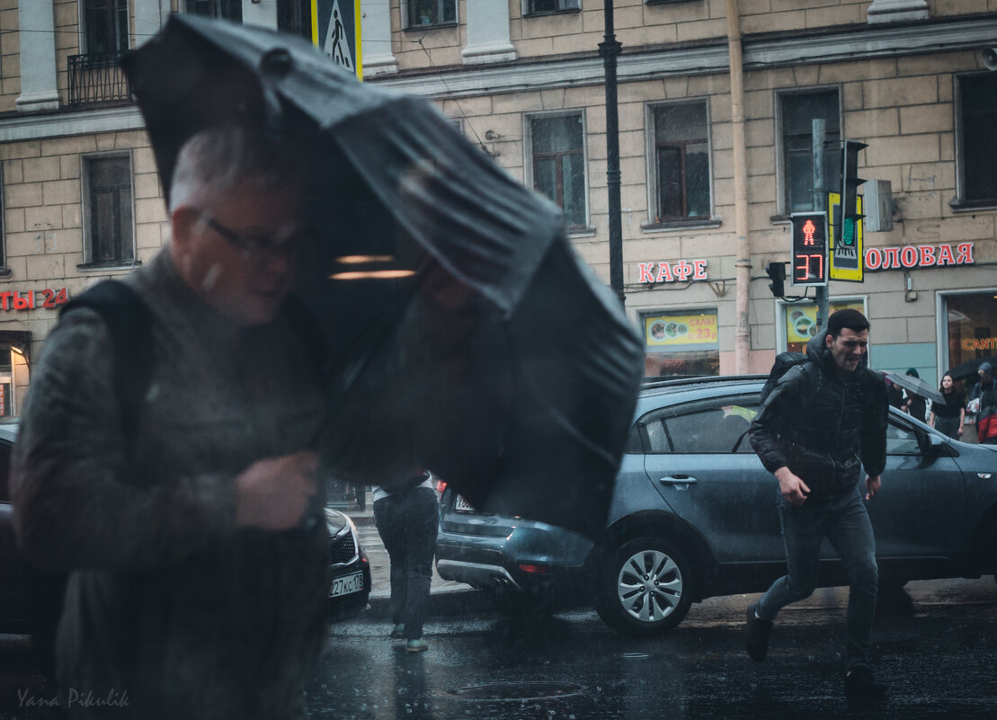
[(684, 310), (643, 317), (644, 376), (720, 374), (716, 310)]

